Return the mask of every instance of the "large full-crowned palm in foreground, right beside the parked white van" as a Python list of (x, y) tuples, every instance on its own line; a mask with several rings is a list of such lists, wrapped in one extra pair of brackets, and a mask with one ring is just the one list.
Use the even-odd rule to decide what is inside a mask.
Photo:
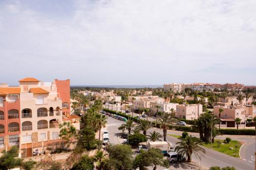
[(187, 136), (185, 138), (179, 138), (181, 141), (177, 142), (176, 144), (178, 144), (177, 147), (175, 147), (175, 151), (178, 154), (181, 154), (182, 157), (183, 156), (187, 156), (187, 161), (191, 162), (191, 155), (195, 154), (196, 158), (199, 157), (201, 159), (201, 157), (199, 156), (199, 154), (204, 153), (205, 154), (205, 150), (200, 147), (200, 144), (203, 143), (202, 140), (200, 140), (197, 137), (194, 136)]

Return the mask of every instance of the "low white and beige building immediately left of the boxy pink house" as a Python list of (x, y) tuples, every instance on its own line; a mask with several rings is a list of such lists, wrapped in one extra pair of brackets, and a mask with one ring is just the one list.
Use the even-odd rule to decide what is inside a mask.
[[(150, 103), (150, 111), (155, 114), (158, 112), (170, 112), (170, 109), (174, 109), (176, 111), (176, 106), (178, 103), (166, 103), (166, 102), (151, 102)], [(157, 108), (159, 106), (160, 108)]]

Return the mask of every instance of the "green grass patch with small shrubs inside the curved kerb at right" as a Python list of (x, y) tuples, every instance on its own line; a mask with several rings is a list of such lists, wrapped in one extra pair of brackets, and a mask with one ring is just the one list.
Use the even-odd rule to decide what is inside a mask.
[[(215, 151), (219, 151), (221, 153), (233, 156), (233, 157), (239, 157), (239, 150), (241, 148), (241, 143), (237, 140), (231, 140), (229, 143), (220, 144), (218, 147), (217, 141), (220, 141), (221, 143), (224, 143), (224, 140), (221, 139), (215, 139), (215, 142), (212, 143), (212, 149)], [(202, 144), (206, 148), (210, 148), (210, 142), (205, 142)], [(238, 146), (237, 151), (235, 146)], [(230, 150), (229, 148), (232, 147), (233, 150)], [(237, 154), (236, 154), (237, 153)]]

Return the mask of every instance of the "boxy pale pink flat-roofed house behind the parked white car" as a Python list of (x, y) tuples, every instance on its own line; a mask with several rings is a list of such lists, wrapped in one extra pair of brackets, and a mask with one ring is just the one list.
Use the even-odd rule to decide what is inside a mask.
[(184, 118), (188, 120), (195, 120), (203, 113), (203, 105), (177, 105), (176, 106), (176, 117)]

